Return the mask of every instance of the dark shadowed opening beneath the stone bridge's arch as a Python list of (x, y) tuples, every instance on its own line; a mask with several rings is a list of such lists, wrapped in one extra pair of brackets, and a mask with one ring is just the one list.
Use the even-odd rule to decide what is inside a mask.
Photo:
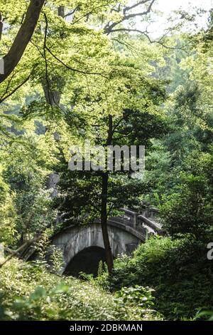
[(97, 277), (99, 262), (106, 262), (105, 250), (101, 247), (87, 247), (78, 252), (65, 268), (66, 276), (79, 277), (80, 272)]

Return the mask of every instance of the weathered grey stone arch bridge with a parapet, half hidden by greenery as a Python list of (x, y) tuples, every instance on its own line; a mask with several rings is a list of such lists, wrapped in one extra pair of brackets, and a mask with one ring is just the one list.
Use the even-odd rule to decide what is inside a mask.
[[(153, 234), (160, 234), (160, 225), (155, 220), (156, 209), (149, 209), (138, 215), (136, 212), (120, 209), (123, 215), (108, 220), (109, 240), (114, 257), (130, 255), (141, 242)], [(92, 225), (65, 228), (52, 237), (52, 244), (62, 250), (65, 269), (70, 261), (82, 250), (89, 247), (104, 249), (102, 228), (99, 220)]]

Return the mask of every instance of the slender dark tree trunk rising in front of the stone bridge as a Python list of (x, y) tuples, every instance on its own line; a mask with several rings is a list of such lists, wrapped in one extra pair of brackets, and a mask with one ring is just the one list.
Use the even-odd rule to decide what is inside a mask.
[(111, 274), (113, 270), (113, 256), (111, 253), (111, 246), (109, 242), (109, 234), (107, 230), (107, 191), (108, 191), (108, 172), (102, 175), (102, 210), (101, 210), (101, 225), (102, 235), (104, 239), (104, 248), (106, 252), (108, 272)]

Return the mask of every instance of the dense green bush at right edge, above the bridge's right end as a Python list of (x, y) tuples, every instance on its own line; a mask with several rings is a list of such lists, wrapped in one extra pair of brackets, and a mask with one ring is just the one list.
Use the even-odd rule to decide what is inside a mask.
[(185, 165), (188, 171), (180, 173), (180, 185), (166, 199), (160, 216), (164, 218), (164, 228), (170, 235), (193, 234), (200, 240), (212, 225), (213, 155), (195, 151)]

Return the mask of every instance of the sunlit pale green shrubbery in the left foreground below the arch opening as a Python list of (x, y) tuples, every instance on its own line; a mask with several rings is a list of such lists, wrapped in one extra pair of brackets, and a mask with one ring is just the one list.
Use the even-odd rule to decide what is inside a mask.
[[(0, 318), (3, 320), (140, 320), (143, 297), (136, 288), (131, 301), (125, 301), (72, 277), (50, 274), (16, 259), (0, 269)], [(121, 295), (125, 295), (124, 292)], [(151, 297), (148, 300), (151, 302)], [(121, 300), (123, 303), (121, 304)], [(144, 299), (145, 300), (145, 299)], [(146, 304), (146, 301), (144, 301)], [(149, 304), (146, 304), (149, 306)], [(151, 311), (143, 319), (151, 319)]]

